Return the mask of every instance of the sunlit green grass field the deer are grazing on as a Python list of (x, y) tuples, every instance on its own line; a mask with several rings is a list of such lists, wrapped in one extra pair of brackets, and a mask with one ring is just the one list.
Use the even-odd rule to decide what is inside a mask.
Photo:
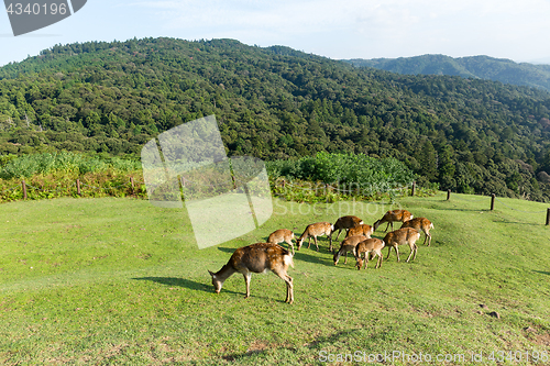
[[(0, 363), (366, 364), (378, 354), (385, 365), (550, 363), (546, 204), (498, 199), (490, 211), (490, 198), (444, 193), (393, 206), (274, 203), (261, 229), (200, 251), (185, 210), (143, 200), (0, 206)], [(413, 263), (406, 247), (380, 269), (358, 271), (350, 258), (334, 267), (322, 237), (319, 253), (296, 252), (293, 304), (273, 274), (253, 275), (249, 299), (241, 275), (213, 292), (208, 269), (276, 229), (299, 235), (344, 214), (372, 224), (394, 208), (435, 224)]]

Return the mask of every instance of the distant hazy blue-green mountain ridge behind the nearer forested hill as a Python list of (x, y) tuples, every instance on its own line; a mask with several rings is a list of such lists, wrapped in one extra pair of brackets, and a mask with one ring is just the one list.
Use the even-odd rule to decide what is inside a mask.
[(517, 64), (505, 58), (422, 55), (400, 58), (355, 58), (345, 62), (358, 67), (374, 67), (398, 74), (461, 76), (550, 91), (550, 65)]

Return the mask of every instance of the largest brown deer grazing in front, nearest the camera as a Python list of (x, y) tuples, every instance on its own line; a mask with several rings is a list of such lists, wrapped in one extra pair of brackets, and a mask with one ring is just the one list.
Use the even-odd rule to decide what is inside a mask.
[(294, 268), (293, 255), (278, 244), (256, 243), (238, 248), (227, 265), (221, 267), (216, 274), (208, 271), (212, 276), (212, 285), (216, 293), (220, 293), (226, 279), (234, 273), (241, 273), (246, 284), (246, 296), (250, 297), (250, 278), (252, 273), (265, 274), (268, 270), (280, 277), (286, 282), (286, 300), (293, 303), (293, 278), (287, 275), (288, 266)]

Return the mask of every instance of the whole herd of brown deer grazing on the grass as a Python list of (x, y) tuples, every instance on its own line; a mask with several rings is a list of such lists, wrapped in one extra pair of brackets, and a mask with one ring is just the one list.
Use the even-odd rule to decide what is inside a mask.
[[(394, 222), (397, 221), (403, 222), (403, 224), (400, 229), (394, 231)], [(371, 237), (373, 232), (384, 223), (387, 223), (386, 232), (388, 228), (392, 226), (392, 231), (386, 234), (384, 240)], [(338, 265), (338, 260), (342, 255), (345, 255), (344, 264), (348, 263), (348, 253), (352, 253), (355, 257), (355, 267), (358, 269), (361, 269), (363, 264), (366, 269), (370, 256), (371, 258), (378, 257), (375, 268), (380, 268), (383, 260), (382, 249), (385, 246), (388, 247), (386, 259), (389, 257), (392, 248), (394, 248), (397, 255), (397, 262), (399, 262), (399, 251), (397, 247), (407, 244), (410, 247), (410, 254), (407, 262), (409, 262), (411, 256), (413, 260), (415, 260), (418, 249), (416, 242), (420, 239), (420, 231), (426, 234), (424, 244), (428, 241), (428, 246), (430, 246), (431, 229), (433, 229), (433, 224), (428, 219), (413, 218), (413, 214), (407, 210), (387, 211), (384, 217), (374, 222), (372, 226), (363, 223), (363, 220), (358, 217), (346, 215), (338, 219), (333, 225), (330, 222), (317, 222), (307, 225), (301, 236), (296, 241), (296, 245), (297, 251), (299, 251), (304, 242), (308, 240), (309, 248), (312, 237), (317, 252), (319, 252), (317, 236), (327, 235), (329, 239), (329, 251), (333, 253), (334, 265)], [(338, 240), (342, 230), (346, 230), (346, 234), (345, 239), (340, 244), (340, 249), (334, 253), (332, 247), (332, 234), (337, 230), (336, 240)], [(279, 229), (270, 235), (267, 243), (256, 243), (238, 248), (233, 255), (231, 255), (228, 264), (219, 271), (215, 274), (209, 270), (216, 293), (220, 292), (228, 277), (234, 273), (241, 273), (244, 276), (244, 282), (246, 285), (245, 298), (248, 298), (250, 297), (250, 278), (252, 273), (261, 274), (271, 270), (286, 282), (285, 302), (293, 303), (293, 278), (287, 274), (288, 266), (294, 267), (293, 257), (295, 252), (293, 240), (294, 233), (290, 230)], [(289, 251), (278, 245), (279, 243), (287, 243)]]

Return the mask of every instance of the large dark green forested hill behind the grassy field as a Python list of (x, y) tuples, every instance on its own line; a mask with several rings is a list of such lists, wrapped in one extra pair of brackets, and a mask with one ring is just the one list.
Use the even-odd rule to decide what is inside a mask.
[(230, 155), (392, 156), (441, 189), (550, 198), (550, 93), (232, 40), (56, 45), (0, 68), (0, 153), (139, 156), (216, 114)]

